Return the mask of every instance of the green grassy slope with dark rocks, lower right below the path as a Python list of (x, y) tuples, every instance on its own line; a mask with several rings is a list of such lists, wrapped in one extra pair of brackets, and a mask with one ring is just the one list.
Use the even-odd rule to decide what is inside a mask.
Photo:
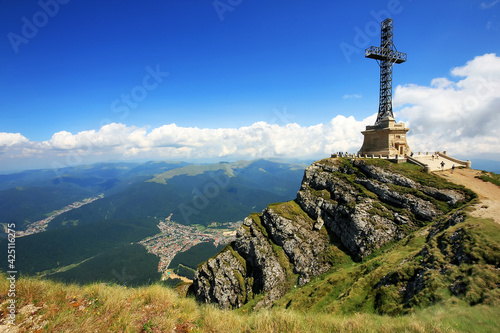
[(352, 314), (414, 313), (434, 304), (500, 306), (500, 226), (467, 219), (434, 237), (427, 227), (361, 263), (348, 262), (274, 306)]

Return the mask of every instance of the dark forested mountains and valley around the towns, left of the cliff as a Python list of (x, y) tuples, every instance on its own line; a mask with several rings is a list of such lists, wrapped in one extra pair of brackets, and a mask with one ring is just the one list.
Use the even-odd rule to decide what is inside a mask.
[[(269, 202), (295, 197), (306, 166), (271, 160), (101, 163), (0, 175), (0, 223), (24, 230), (102, 194), (55, 217), (47, 231), (18, 238), (18, 271), (74, 282), (151, 283), (159, 279), (158, 258), (136, 243), (157, 234), (159, 221), (242, 220)], [(5, 243), (0, 240), (0, 247)]]

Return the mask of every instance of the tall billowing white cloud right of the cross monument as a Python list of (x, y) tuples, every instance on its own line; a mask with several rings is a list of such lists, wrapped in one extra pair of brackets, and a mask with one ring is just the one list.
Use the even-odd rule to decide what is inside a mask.
[(457, 80), (396, 88), (394, 107), (401, 107), (398, 118), (408, 120), (411, 146), (500, 157), (500, 57), (476, 57), (451, 75)]

